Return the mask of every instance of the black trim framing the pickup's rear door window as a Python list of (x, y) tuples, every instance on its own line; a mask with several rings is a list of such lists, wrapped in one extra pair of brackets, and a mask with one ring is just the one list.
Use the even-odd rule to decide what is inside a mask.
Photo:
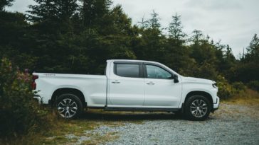
[[(117, 64), (138, 64), (139, 65), (139, 76), (138, 77), (129, 77), (129, 76), (120, 76), (117, 74)], [(124, 77), (124, 78), (144, 78), (144, 72), (143, 72), (143, 63), (141, 62), (113, 62), (113, 74), (116, 76)]]

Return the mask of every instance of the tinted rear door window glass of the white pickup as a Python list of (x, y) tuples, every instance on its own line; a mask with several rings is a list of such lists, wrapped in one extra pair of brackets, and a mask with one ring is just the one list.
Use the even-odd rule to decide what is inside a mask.
[(115, 64), (115, 74), (124, 77), (139, 77), (139, 64)]

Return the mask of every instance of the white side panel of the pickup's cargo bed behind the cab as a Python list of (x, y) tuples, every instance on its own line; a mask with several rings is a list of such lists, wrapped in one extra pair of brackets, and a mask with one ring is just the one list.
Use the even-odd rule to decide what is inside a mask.
[(38, 95), (42, 98), (43, 104), (48, 104), (50, 96), (62, 88), (74, 88), (80, 90), (85, 96), (85, 102), (93, 104), (91, 107), (105, 107), (107, 93), (107, 77), (101, 75), (81, 74), (43, 74), (38, 75), (37, 88), (42, 88)]

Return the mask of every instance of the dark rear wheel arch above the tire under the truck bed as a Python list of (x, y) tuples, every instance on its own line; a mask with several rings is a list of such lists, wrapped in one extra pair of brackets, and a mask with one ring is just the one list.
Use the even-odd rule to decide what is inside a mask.
[(78, 98), (81, 100), (83, 104), (83, 108), (87, 107), (87, 103), (85, 102), (85, 96), (83, 95), (82, 91), (76, 89), (76, 88), (58, 88), (56, 91), (53, 92), (51, 96), (51, 104), (56, 104), (56, 99), (59, 95), (65, 94), (65, 93), (72, 93), (73, 95), (78, 96)]

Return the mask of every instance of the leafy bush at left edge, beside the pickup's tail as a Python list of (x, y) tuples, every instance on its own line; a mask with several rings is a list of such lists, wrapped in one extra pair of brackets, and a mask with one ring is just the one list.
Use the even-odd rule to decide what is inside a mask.
[(31, 75), (0, 61), (0, 137), (20, 137), (38, 129), (44, 122), (43, 110), (33, 100)]

